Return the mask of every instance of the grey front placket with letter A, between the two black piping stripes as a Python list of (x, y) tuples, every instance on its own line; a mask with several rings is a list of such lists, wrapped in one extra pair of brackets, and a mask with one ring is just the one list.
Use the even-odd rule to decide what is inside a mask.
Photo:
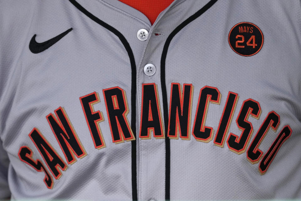
[[(163, 11), (149, 30), (137, 69), (137, 121), (139, 121), (137, 122), (137, 157), (139, 157), (137, 190), (139, 200), (166, 199), (166, 173), (169, 174), (169, 168), (166, 172), (166, 163), (169, 166), (169, 160), (166, 161), (167, 133), (163, 118), (160, 65), (166, 38), (177, 24), (166, 26), (160, 23), (161, 19), (170, 17), (168, 16), (169, 8), (176, 3), (176, 1), (173, 2)], [(149, 128), (142, 126), (142, 122), (149, 123)], [(152, 127), (154, 125), (155, 128)], [(169, 188), (169, 178), (167, 180)]]

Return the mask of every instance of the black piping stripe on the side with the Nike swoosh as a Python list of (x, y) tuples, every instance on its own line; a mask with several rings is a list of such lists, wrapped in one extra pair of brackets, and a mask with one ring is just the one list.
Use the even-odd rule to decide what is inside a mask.
[[(113, 34), (115, 34), (122, 44), (125, 47), (125, 50), (128, 52), (129, 60), (131, 63), (131, 70), (132, 70), (132, 84), (131, 84), (131, 128), (134, 133), (134, 136), (136, 138), (136, 64), (135, 64), (135, 58), (133, 51), (131, 47), (129, 46), (128, 41), (125, 39), (125, 37), (114, 27), (110, 26), (109, 24), (103, 22), (96, 16), (94, 16), (92, 13), (87, 11), (85, 8), (83, 8), (79, 3), (77, 3), (75, 0), (69, 0), (76, 8), (78, 8), (83, 14), (87, 15), (90, 19), (92, 19), (94, 22), (100, 24), (107, 30), (111, 31)], [(137, 162), (136, 162), (136, 141), (133, 140), (132, 143), (132, 198), (133, 200), (138, 200), (137, 197)]]

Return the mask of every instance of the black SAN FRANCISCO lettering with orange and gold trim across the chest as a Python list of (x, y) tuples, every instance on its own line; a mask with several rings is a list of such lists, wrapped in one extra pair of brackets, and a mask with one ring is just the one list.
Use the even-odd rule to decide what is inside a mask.
[[(239, 30), (244, 31), (244, 29)], [(248, 28), (246, 30), (250, 31)], [(229, 133), (239, 98), (237, 93), (229, 91), (219, 120), (219, 126), (215, 132), (214, 128), (206, 122), (206, 118), (208, 112), (210, 112), (209, 104), (220, 105), (221, 93), (216, 87), (204, 86), (199, 91), (197, 109), (191, 129), (193, 90), (192, 84), (183, 84), (183, 86), (179, 83), (171, 84), (168, 129), (165, 133), (157, 86), (155, 83), (142, 84), (139, 138), (162, 139), (167, 135), (170, 139), (180, 138), (182, 140), (190, 140), (193, 136), (196, 141), (203, 143), (209, 143), (213, 140), (214, 145), (223, 148), (226, 144), (228, 149), (236, 154), (240, 155), (246, 152), (247, 160), (251, 164), (259, 163), (259, 173), (261, 175), (265, 174), (281, 145), (291, 136), (292, 129), (290, 126), (285, 125), (267, 152), (263, 153), (259, 146), (270, 129), (277, 132), (280, 116), (275, 111), (270, 111), (251, 141), (254, 129), (249, 118), (259, 120), (261, 107), (259, 102), (249, 98), (243, 101), (240, 112), (236, 117), (236, 125), (241, 133)], [(135, 140), (135, 134), (127, 118), (129, 106), (125, 91), (117, 86), (104, 89), (103, 97), (107, 113), (106, 118), (103, 116), (103, 111), (95, 111), (94, 109), (94, 104), (100, 103), (97, 92), (79, 98), (89, 129), (87, 133), (90, 133), (95, 149), (106, 147), (101, 131), (101, 124), (105, 119), (108, 120), (112, 143), (119, 144), (124, 143), (124, 141)], [(63, 107), (55, 109), (54, 114), (50, 113), (46, 116), (46, 119), (66, 161), (57, 153), (38, 128), (33, 128), (29, 133), (29, 138), (38, 149), (49, 171), (41, 160), (33, 159), (33, 151), (28, 146), (20, 147), (18, 156), (20, 160), (36, 171), (43, 171), (45, 173), (44, 182), (51, 189), (53, 187), (52, 176), (55, 179), (60, 179), (62, 171), (66, 171), (68, 165), (74, 164), (77, 159), (85, 157), (87, 152)]]

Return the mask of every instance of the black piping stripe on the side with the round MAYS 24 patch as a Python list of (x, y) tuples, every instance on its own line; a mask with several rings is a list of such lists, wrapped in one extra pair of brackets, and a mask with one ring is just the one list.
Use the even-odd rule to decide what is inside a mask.
[[(167, 135), (168, 131), (168, 103), (167, 103), (167, 91), (166, 91), (166, 81), (165, 81), (165, 62), (168, 47), (175, 35), (182, 30), (187, 24), (192, 22), (201, 16), (205, 11), (207, 11), (217, 0), (211, 0), (203, 8), (198, 10), (195, 14), (191, 15), (184, 22), (177, 26), (175, 30), (167, 37), (161, 56), (161, 89), (162, 89), (162, 101), (163, 101), (163, 115), (164, 115), (164, 125), (165, 125), (165, 134)], [(167, 136), (165, 136), (165, 199), (170, 199), (170, 141)]]

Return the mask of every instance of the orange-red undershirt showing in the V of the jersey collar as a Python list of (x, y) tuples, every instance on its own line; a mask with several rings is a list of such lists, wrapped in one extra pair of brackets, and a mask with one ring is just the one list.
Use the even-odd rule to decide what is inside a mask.
[(125, 3), (141, 13), (150, 20), (150, 23), (153, 25), (156, 21), (158, 15), (167, 8), (173, 0), (119, 0), (122, 3)]

